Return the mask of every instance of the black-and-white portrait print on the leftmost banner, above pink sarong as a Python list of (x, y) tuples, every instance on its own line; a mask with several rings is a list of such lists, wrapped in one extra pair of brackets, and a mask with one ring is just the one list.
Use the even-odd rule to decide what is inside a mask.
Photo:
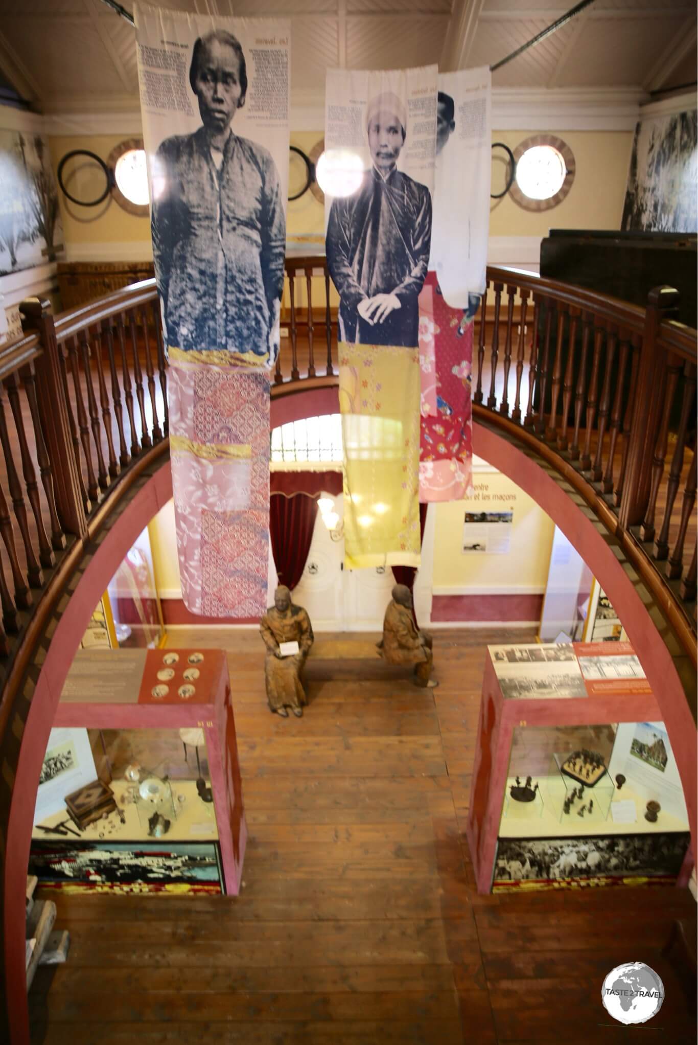
[[(154, 96), (145, 67), (165, 65), (154, 52), (165, 53), (170, 67), (172, 60), (153, 46), (147, 16), (139, 20), (139, 62), (168, 349), (237, 353), (248, 365), (265, 365), (278, 352), (283, 291), (288, 48), (255, 46), (283, 38), (256, 29), (256, 20), (161, 15), (166, 42), (180, 42), (181, 111), (163, 112), (167, 96)], [(257, 90), (255, 75), (263, 79)]]

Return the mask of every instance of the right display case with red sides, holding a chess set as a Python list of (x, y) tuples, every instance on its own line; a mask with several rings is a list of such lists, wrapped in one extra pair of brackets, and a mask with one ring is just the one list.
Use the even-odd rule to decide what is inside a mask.
[(678, 769), (629, 644), (490, 648), (467, 835), (481, 892), (688, 878)]

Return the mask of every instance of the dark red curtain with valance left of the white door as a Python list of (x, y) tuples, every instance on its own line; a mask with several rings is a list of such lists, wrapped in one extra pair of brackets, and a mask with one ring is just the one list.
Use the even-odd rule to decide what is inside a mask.
[(340, 471), (273, 471), (269, 531), (279, 584), (293, 589), (305, 570), (321, 493), (342, 493)]

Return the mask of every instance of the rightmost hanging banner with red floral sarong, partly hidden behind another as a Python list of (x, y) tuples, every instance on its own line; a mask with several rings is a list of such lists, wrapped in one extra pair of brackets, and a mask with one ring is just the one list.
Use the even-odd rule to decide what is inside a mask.
[(440, 73), (432, 255), (419, 298), (421, 502), (472, 491), (472, 338), (486, 283), (490, 143), (489, 69)]

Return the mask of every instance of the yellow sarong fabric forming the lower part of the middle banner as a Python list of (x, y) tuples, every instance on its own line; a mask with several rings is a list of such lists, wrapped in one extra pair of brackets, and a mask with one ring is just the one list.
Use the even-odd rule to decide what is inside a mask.
[(349, 568), (420, 562), (419, 352), (340, 343)]

